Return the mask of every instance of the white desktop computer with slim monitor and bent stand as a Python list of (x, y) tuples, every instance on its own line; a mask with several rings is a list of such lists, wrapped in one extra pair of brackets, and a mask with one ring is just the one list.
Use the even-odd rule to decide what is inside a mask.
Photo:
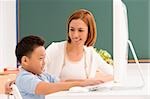
[[(113, 81), (104, 84), (89, 86), (90, 91), (102, 90), (128, 90), (137, 89), (144, 86), (144, 77), (138, 62), (135, 50), (129, 40), (127, 8), (122, 0), (113, 0)], [(131, 84), (128, 80), (128, 48), (131, 49), (133, 57), (138, 67), (141, 82)], [(134, 77), (133, 77), (134, 80)]]

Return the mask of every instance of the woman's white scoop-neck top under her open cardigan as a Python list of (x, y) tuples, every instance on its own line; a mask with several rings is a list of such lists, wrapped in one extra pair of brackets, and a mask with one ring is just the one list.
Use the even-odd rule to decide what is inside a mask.
[(60, 79), (67, 80), (67, 79), (86, 79), (86, 71), (85, 71), (85, 57), (84, 54), (81, 60), (73, 62), (70, 61), (65, 55), (65, 62), (62, 68)]

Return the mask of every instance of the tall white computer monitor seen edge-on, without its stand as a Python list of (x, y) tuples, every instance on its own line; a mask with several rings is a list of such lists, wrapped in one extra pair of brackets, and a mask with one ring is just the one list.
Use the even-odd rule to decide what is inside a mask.
[(113, 0), (113, 65), (114, 82), (124, 83), (128, 63), (128, 18), (122, 0)]

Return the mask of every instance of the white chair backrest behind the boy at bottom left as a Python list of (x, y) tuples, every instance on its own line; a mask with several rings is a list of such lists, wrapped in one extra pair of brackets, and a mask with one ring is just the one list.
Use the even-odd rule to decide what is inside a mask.
[(23, 99), (17, 86), (15, 84), (12, 84), (11, 86), (12, 86), (12, 94), (14, 95), (14, 98)]

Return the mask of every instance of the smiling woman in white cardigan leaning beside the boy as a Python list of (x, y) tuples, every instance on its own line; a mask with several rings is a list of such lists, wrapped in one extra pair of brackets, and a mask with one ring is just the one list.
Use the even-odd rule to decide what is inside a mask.
[(95, 42), (94, 16), (85, 9), (75, 11), (67, 22), (67, 41), (52, 43), (46, 49), (47, 71), (62, 80), (95, 78), (98, 68), (103, 74), (112, 74), (112, 66), (93, 49)]

